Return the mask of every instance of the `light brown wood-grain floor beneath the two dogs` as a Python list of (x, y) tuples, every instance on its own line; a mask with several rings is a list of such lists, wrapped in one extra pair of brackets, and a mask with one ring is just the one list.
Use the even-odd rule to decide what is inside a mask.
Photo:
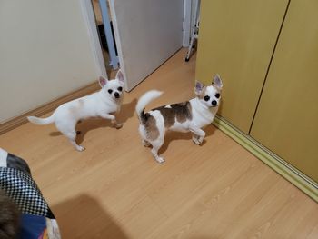
[(168, 134), (164, 164), (141, 144), (140, 95), (164, 91), (148, 109), (194, 95), (195, 58), (185, 63), (184, 55), (124, 96), (122, 129), (78, 124), (83, 153), (53, 124), (0, 135), (1, 147), (30, 164), (63, 238), (318, 238), (318, 204), (214, 126), (200, 146), (190, 134)]

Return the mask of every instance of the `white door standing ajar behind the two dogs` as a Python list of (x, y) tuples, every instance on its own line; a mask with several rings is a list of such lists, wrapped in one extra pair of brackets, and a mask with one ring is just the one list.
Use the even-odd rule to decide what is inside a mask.
[(130, 91), (183, 45), (183, 0), (110, 0), (110, 6)]

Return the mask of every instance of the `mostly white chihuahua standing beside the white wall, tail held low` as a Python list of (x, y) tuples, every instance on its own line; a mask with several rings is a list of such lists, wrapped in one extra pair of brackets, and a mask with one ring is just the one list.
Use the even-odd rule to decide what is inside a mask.
[(99, 83), (102, 86), (100, 91), (58, 106), (53, 115), (47, 118), (28, 116), (27, 119), (34, 124), (55, 123), (56, 128), (70, 140), (75, 149), (83, 151), (84, 147), (75, 142), (75, 125), (79, 120), (102, 117), (111, 120), (116, 128), (123, 126), (116, 122), (114, 115), (110, 115), (119, 112), (122, 104), (124, 87), (122, 72), (119, 70), (115, 79), (110, 81), (100, 76)]

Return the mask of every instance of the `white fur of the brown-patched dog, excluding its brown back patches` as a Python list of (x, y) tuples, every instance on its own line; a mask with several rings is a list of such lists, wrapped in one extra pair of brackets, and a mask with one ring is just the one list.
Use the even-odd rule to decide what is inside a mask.
[[(148, 112), (155, 119), (155, 126), (159, 131), (159, 136), (154, 140), (149, 136), (151, 132), (147, 130), (143, 124), (144, 107), (151, 101), (162, 95), (162, 92), (152, 90), (145, 93), (138, 101), (136, 105), (136, 113), (140, 120), (139, 133), (143, 138), (143, 144), (145, 146), (152, 145), (152, 154), (154, 159), (158, 163), (163, 163), (164, 158), (158, 155), (158, 150), (164, 144), (164, 134), (167, 130), (178, 131), (178, 132), (192, 132), (194, 144), (202, 144), (205, 136), (205, 132), (201, 129), (202, 127), (211, 124), (214, 120), (214, 116), (217, 113), (220, 100), (221, 90), (223, 87), (222, 80), (219, 75), (215, 75), (213, 85), (205, 86), (200, 82), (196, 82), (194, 92), (196, 97), (189, 101), (192, 111), (192, 119), (187, 119), (183, 123), (177, 122), (175, 119), (174, 124), (169, 128), (165, 128), (164, 115), (157, 109)], [(218, 97), (215, 95), (218, 94)], [(204, 96), (209, 96), (209, 100), (204, 100)], [(216, 101), (216, 105), (212, 105), (212, 102)], [(215, 104), (215, 102), (214, 102)], [(165, 108), (171, 108), (171, 105), (165, 105)]]

